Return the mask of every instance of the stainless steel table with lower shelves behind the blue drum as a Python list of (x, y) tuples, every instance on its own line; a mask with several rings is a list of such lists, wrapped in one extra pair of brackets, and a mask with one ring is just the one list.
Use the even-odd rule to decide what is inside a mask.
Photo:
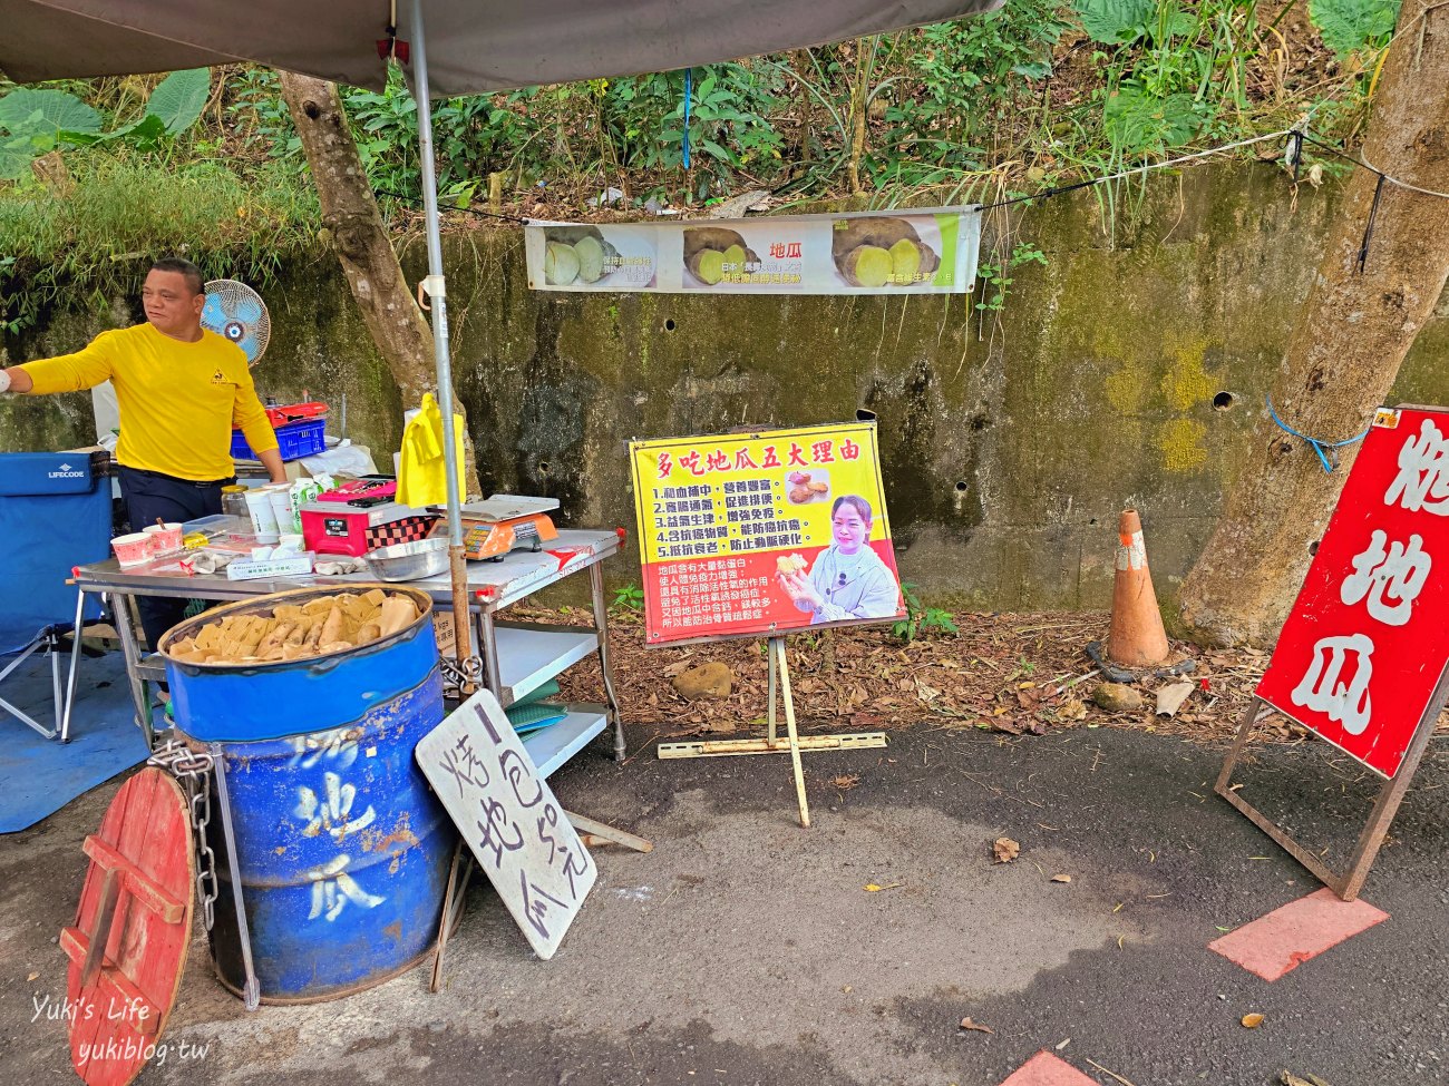
[[(613, 670), (609, 662), (609, 610), (604, 604), (604, 578), (600, 565), (619, 550), (620, 539), (617, 531), (561, 530), (558, 539), (548, 544), (548, 550), (538, 553), (514, 550), (501, 562), (468, 563), (468, 594), (471, 597), (468, 610), (477, 626), (477, 644), (481, 649), (483, 665), (481, 679), (504, 707), (536, 691), (571, 665), (598, 653), (607, 704), (569, 705), (565, 720), (525, 737), (525, 749), (545, 776), (578, 753), (610, 724), (614, 730), (614, 756), (619, 760), (623, 760), (625, 756), (623, 721), (619, 717), (619, 701), (614, 695)], [(498, 613), (540, 588), (584, 571), (588, 572), (594, 605), (593, 627), (513, 623), (498, 618)], [(159, 668), (159, 659), (148, 660), (141, 652), (136, 621), (129, 605), (130, 597), (251, 599), (293, 588), (346, 588), (354, 584), (375, 584), (375, 578), (362, 572), (346, 576), (309, 573), (278, 579), (227, 581), (225, 573), (187, 576), (180, 571), (177, 559), (172, 556), (128, 569), (122, 569), (114, 559), (78, 566), (75, 584), (81, 592), (99, 594), (112, 604), (112, 613), (116, 615), (116, 633), (126, 656), (126, 675), (136, 707), (136, 723), (148, 744), (155, 746), (146, 688), (151, 682), (162, 679), (164, 670)], [(452, 611), (452, 585), (446, 573), (406, 584), (427, 592), (433, 598), (435, 608)], [(71, 657), (67, 683), (64, 712), (64, 728), (67, 730), (75, 691), (77, 657), (78, 653)]]

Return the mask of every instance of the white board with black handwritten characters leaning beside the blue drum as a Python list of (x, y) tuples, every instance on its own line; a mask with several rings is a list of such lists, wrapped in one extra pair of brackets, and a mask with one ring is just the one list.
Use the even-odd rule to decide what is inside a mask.
[(474, 694), (416, 757), (529, 946), (554, 957), (598, 869), (498, 699)]

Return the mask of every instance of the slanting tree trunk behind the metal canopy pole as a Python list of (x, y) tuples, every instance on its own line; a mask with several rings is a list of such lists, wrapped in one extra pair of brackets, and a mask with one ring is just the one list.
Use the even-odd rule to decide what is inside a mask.
[[(362, 321), (403, 394), (403, 407), (417, 407), (425, 392), (438, 392), (433, 333), (403, 278), (336, 84), (281, 72), (281, 93), (312, 167), (323, 226)], [(456, 392), (454, 405), (458, 414), (465, 414)], [(465, 440), (464, 447), (465, 463), (459, 465), (464, 489), (477, 494), (472, 442)]]

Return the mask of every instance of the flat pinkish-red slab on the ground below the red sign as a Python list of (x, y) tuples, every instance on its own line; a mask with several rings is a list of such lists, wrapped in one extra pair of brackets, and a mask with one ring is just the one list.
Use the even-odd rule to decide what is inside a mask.
[(1290, 901), (1207, 944), (1264, 980), (1277, 980), (1346, 938), (1388, 919), (1366, 901), (1339, 901), (1329, 888)]

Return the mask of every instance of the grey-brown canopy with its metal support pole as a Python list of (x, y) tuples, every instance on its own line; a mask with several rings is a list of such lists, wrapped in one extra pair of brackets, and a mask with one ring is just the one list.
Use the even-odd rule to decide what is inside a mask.
[[(0, 0), (0, 71), (81, 78), (255, 62), (380, 90), (396, 39), (417, 100), (438, 398), (454, 414), (432, 97), (669, 71), (981, 14), (1003, 0)], [(374, 17), (365, 17), (371, 10)], [(426, 32), (426, 38), (425, 38)], [(454, 605), (462, 591), (458, 462), (448, 462)], [(459, 656), (467, 623), (456, 624)]]

